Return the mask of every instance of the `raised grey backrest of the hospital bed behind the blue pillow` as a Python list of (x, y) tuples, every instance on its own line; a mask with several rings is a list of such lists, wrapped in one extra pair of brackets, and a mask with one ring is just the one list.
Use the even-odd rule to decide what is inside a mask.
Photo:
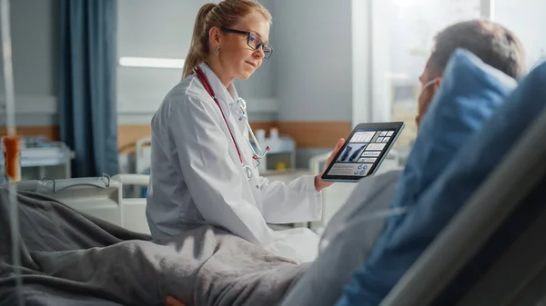
[[(478, 278), (468, 278), (471, 264), (484, 251), (482, 248), (490, 248), (487, 243), (526, 203), (531, 192), (544, 188), (544, 139), (546, 111), (404, 274), (381, 306), (445, 304), (453, 289), (461, 286), (461, 280), (469, 290), (447, 300), (454, 305), (546, 305), (545, 210), (527, 229), (517, 233), (515, 242), (493, 254), (490, 269)], [(454, 298), (460, 301), (455, 303)]]

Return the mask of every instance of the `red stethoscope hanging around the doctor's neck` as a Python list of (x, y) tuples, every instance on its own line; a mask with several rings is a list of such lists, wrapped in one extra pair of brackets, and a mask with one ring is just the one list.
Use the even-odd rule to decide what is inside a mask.
[[(237, 149), (239, 161), (241, 162), (241, 164), (243, 164), (243, 171), (247, 174), (247, 180), (250, 181), (250, 179), (252, 178), (252, 175), (253, 175), (252, 174), (252, 168), (250, 168), (250, 166), (248, 164), (243, 163), (243, 157), (241, 156), (241, 153), (239, 151), (238, 144), (235, 141), (235, 137), (233, 136), (233, 133), (231, 132), (231, 128), (229, 128), (229, 124), (227, 123), (226, 116), (224, 115), (224, 112), (222, 112), (222, 107), (218, 103), (216, 94), (214, 93), (214, 90), (212, 90), (212, 86), (210, 85), (210, 83), (208, 83), (207, 75), (205, 75), (205, 73), (203, 73), (203, 71), (199, 67), (196, 67), (194, 69), (194, 72), (197, 74), (197, 79), (199, 79), (199, 81), (201, 81), (201, 84), (203, 84), (203, 86), (205, 87), (205, 90), (207, 91), (207, 93), (210, 95), (210, 97), (212, 97), (214, 102), (217, 104), (218, 109), (220, 110), (220, 114), (222, 114), (222, 118), (224, 118), (224, 122), (227, 125), (227, 130), (229, 131), (229, 134), (231, 135), (231, 140), (233, 141), (233, 144), (235, 144), (235, 148)], [(239, 98), (237, 103), (240, 105), (240, 108), (239, 108), (240, 114), (246, 115), (247, 114), (247, 103), (245, 102), (245, 100)], [(250, 150), (252, 150), (252, 159), (257, 161), (258, 164), (259, 164), (259, 160), (266, 156), (266, 154), (269, 152), (270, 148), (267, 147), (265, 152), (262, 151), (261, 147), (259, 146), (258, 139), (256, 139), (256, 136), (254, 135), (254, 132), (252, 132), (252, 128), (250, 127), (250, 124), (248, 123), (248, 121), (247, 121), (247, 127), (248, 127), (248, 133), (250, 133), (250, 136), (252, 137), (252, 141), (256, 144), (256, 149), (258, 149), (258, 153), (256, 152), (256, 150), (252, 146), (252, 143), (250, 143), (250, 139), (248, 137), (245, 137), (245, 138), (247, 138), (248, 146), (250, 147)], [(256, 166), (258, 166), (258, 164)]]

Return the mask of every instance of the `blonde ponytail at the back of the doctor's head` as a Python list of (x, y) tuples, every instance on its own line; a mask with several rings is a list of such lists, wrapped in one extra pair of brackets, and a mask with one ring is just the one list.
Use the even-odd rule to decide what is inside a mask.
[(194, 32), (191, 37), (191, 44), (189, 51), (187, 52), (186, 59), (184, 60), (184, 73), (182, 78), (187, 78), (188, 75), (193, 74), (193, 70), (200, 64), (208, 52), (208, 33), (206, 18), (207, 14), (215, 7), (216, 4), (206, 4), (199, 9), (197, 13), (196, 23), (194, 25)]

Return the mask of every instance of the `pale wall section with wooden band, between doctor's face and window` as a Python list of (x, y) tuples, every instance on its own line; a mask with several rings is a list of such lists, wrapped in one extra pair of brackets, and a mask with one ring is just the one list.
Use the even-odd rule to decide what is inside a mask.
[(271, 40), (278, 127), (297, 163), (331, 150), (351, 127), (351, 1), (274, 1)]

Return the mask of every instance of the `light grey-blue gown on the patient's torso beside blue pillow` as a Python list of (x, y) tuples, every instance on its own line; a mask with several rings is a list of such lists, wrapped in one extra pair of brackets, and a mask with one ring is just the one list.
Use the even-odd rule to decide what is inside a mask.
[(282, 306), (330, 306), (379, 238), (401, 171), (361, 179), (348, 201), (328, 223), (320, 253), (298, 280)]

